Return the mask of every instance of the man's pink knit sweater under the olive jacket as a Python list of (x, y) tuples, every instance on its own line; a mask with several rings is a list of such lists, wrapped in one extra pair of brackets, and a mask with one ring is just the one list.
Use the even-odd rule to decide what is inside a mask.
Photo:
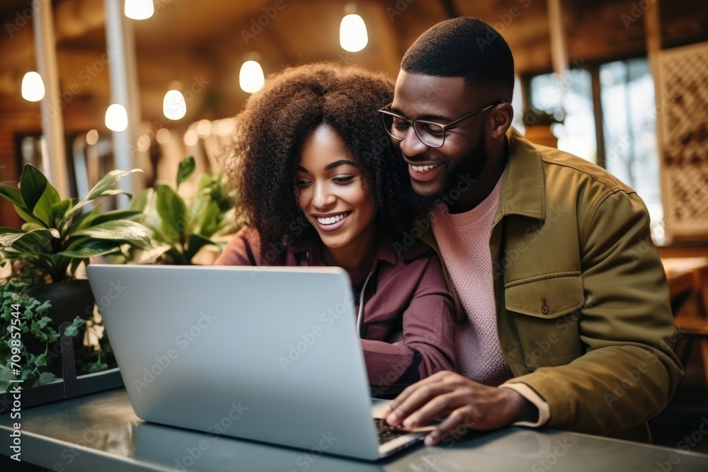
[(433, 233), (455, 289), (457, 309), (466, 318), (455, 330), (457, 372), (498, 386), (512, 377), (499, 344), (489, 237), (499, 205), (501, 178), (489, 197), (469, 212), (433, 212)]

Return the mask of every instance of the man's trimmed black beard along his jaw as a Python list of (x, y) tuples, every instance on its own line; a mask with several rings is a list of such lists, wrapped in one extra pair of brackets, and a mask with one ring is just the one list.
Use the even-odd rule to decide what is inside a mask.
[(447, 194), (449, 194), (450, 190), (457, 188), (457, 185), (462, 182), (462, 177), (464, 177), (465, 180), (476, 181), (487, 163), (487, 152), (484, 146), (485, 137), (486, 132), (483, 129), (477, 142), (467, 151), (467, 154), (465, 154), (462, 159), (457, 161), (457, 165), (447, 168), (438, 192), (432, 195), (419, 195), (409, 186), (409, 201), (411, 205), (413, 205), (414, 208), (422, 207), (426, 212), (430, 212), (445, 201), (442, 197), (449, 196)]

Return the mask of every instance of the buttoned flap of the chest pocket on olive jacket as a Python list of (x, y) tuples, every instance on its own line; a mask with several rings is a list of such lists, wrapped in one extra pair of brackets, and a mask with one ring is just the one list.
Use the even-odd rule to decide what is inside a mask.
[(543, 277), (507, 284), (506, 309), (538, 318), (558, 318), (585, 304), (580, 272)]

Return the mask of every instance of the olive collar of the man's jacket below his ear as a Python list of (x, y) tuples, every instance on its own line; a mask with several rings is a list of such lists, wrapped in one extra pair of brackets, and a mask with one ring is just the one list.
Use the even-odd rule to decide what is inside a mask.
[(508, 129), (506, 139), (508, 159), (494, 224), (508, 214), (545, 219), (546, 189), (541, 153), (514, 127)]

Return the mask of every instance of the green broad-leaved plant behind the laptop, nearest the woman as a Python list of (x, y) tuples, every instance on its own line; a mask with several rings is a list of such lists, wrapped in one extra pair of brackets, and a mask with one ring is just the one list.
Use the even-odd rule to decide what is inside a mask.
[(157, 183), (132, 199), (130, 209), (142, 213), (138, 221), (154, 234), (149, 254), (133, 251), (129, 255), (132, 261), (191, 265), (201, 248), (222, 248), (224, 243), (217, 238), (238, 229), (234, 216), (236, 195), (227, 190), (222, 172), (201, 175), (190, 201), (185, 202), (178, 194), (181, 183), (194, 171), (194, 157), (189, 156), (179, 163), (174, 189)]

